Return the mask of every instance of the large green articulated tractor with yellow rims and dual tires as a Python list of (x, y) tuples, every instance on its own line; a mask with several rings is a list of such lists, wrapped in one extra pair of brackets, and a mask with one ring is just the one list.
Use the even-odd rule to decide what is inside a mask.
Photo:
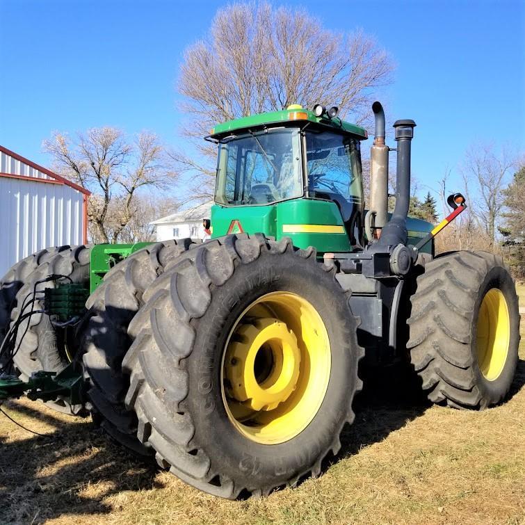
[[(212, 239), (44, 250), (0, 290), (0, 398), (95, 422), (200, 490), (234, 499), (317, 476), (353, 423), (358, 371), (407, 362), (430, 401), (484, 409), (517, 365), (501, 257), (448, 252), (407, 218), (415, 123), (373, 104), (371, 204), (361, 127), (289, 106), (215, 127)], [(363, 360), (362, 363), (360, 363)], [(9, 373), (9, 375), (6, 375)], [(373, 372), (371, 372), (373, 373)]]

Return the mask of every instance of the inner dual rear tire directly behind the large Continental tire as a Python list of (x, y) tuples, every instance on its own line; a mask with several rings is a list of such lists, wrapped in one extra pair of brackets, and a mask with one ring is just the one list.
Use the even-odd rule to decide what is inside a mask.
[(83, 320), (81, 347), (90, 380), (92, 417), (115, 441), (138, 455), (152, 455), (137, 439), (137, 417), (124, 406), (129, 378), (122, 358), (131, 346), (127, 327), (143, 305), (143, 292), (192, 245), (190, 239), (155, 243), (111, 268), (92, 293)]

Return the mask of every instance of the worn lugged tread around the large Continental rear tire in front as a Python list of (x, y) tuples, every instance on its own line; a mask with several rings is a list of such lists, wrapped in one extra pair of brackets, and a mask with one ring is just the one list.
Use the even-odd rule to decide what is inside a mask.
[[(147, 316), (140, 312), (131, 322), (130, 332), (136, 334), (136, 339), (122, 362), (123, 369), (131, 374), (126, 403), (129, 410), (134, 409), (138, 414), (140, 441), (155, 449), (161, 467), (169, 467), (172, 474), (197, 489), (227, 499), (235, 499), (246, 491), (252, 496), (269, 494), (276, 487), (271, 485), (250, 490), (250, 487), (236, 486), (227, 476), (213, 471), (211, 460), (193, 440), (191, 414), (186, 411), (184, 404), (188, 396), (188, 373), (184, 357), (188, 357), (193, 349), (195, 334), (192, 323), (204, 314), (206, 308), (203, 302), (207, 307), (207, 302), (211, 301), (210, 289), (224, 284), (235, 266), (254, 261), (263, 250), (279, 253), (289, 251), (296, 257), (308, 259), (311, 264), (318, 264), (315, 250), (298, 250), (293, 248), (289, 238), (275, 243), (261, 234), (229, 235), (207, 243), (206, 249), (202, 246), (202, 249), (191, 250), (184, 261), (179, 261), (145, 293), (151, 302), (156, 301), (156, 308), (151, 307)], [(334, 274), (333, 268), (323, 269)], [(166, 293), (168, 279), (169, 293)], [(186, 293), (181, 296), (184, 290)], [(146, 307), (149, 306), (150, 302)], [(171, 320), (170, 325), (168, 319)], [(173, 325), (177, 325), (178, 337), (177, 341), (170, 341), (171, 348), (168, 350), (165, 334), (170, 332)], [(355, 338), (355, 334), (348, 331), (348, 340), (352, 340), (352, 337)], [(179, 350), (174, 353), (174, 348)], [(186, 353), (179, 353), (181, 349), (186, 349)], [(364, 355), (364, 350), (358, 348), (356, 354), (358, 361)], [(357, 380), (355, 391), (349, 392), (348, 413), (330, 446), (319, 451), (315, 462), (285, 485), (294, 485), (305, 476), (317, 476), (323, 458), (330, 452), (337, 454), (341, 447), (339, 434), (345, 423), (354, 420), (353, 395), (360, 389), (362, 381)], [(169, 434), (164, 426), (170, 429)], [(174, 428), (177, 429), (175, 433)]]

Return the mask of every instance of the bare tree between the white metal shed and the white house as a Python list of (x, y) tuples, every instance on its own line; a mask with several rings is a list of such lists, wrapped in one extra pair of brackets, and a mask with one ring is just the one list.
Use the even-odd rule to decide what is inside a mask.
[(88, 218), (97, 242), (118, 242), (138, 213), (140, 191), (165, 188), (176, 178), (159, 139), (147, 132), (134, 141), (112, 127), (89, 129), (76, 141), (56, 132), (43, 147), (58, 172), (92, 192)]

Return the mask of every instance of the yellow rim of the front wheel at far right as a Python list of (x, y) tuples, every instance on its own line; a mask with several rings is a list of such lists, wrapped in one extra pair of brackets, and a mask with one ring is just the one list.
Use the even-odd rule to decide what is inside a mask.
[(501, 290), (491, 288), (481, 302), (478, 314), (478, 364), (489, 381), (499, 378), (507, 361), (510, 343), (510, 316)]

